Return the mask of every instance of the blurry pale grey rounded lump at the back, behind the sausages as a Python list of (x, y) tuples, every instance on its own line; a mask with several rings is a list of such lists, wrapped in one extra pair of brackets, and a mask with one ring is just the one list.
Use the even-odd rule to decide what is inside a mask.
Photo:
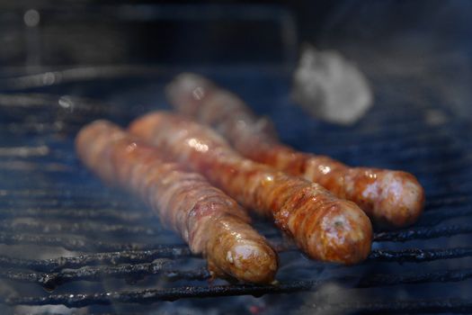
[(334, 50), (307, 46), (293, 76), (292, 97), (313, 116), (340, 124), (361, 119), (372, 105), (367, 78)]

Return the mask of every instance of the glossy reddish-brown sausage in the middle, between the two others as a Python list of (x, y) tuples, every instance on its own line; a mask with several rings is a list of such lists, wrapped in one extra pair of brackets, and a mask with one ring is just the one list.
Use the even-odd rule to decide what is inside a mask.
[(129, 131), (207, 176), (246, 208), (272, 218), (309, 257), (354, 264), (369, 255), (369, 218), (319, 184), (241, 157), (215, 131), (171, 113), (149, 113)]

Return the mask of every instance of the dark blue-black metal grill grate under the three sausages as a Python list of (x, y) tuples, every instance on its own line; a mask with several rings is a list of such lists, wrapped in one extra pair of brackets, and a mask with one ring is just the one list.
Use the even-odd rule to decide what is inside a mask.
[[(168, 109), (161, 92), (182, 67), (4, 70), (0, 311), (472, 312), (471, 121), (450, 106), (444, 82), (418, 81), (423, 70), (388, 71), (390, 59), (344, 49), (359, 60), (375, 92), (373, 108), (349, 127), (316, 121), (294, 106), (287, 63), (184, 68), (242, 95), (295, 148), (352, 166), (404, 169), (425, 188), (421, 219), (408, 229), (378, 230), (370, 257), (358, 266), (309, 260), (255, 218), (280, 253), (277, 285), (209, 283), (204, 259), (192, 256), (143, 203), (105, 187), (76, 158), (74, 137), (85, 123), (106, 118), (126, 125), (144, 112)], [(434, 70), (442, 67), (450, 64)]]

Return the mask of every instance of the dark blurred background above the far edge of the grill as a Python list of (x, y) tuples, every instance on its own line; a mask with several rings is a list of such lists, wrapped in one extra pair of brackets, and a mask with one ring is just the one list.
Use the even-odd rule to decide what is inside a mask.
[(468, 0), (15, 1), (0, 7), (5, 76), (109, 65), (259, 64), (293, 71), (310, 43), (339, 51), (370, 78), (416, 76), (418, 84), (436, 86), (451, 110), (471, 113)]

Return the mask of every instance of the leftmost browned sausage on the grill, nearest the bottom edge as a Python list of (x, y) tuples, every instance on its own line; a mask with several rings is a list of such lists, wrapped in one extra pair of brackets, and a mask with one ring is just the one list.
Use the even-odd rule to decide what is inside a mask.
[(205, 177), (166, 163), (155, 148), (108, 121), (85, 126), (76, 137), (76, 151), (104, 181), (147, 202), (192, 253), (207, 258), (213, 276), (272, 283), (276, 253), (250, 226), (247, 213)]

